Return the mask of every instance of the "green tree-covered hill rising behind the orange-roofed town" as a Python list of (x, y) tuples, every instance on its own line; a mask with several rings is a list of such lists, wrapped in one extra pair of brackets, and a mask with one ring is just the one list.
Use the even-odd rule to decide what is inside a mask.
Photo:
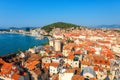
[(44, 29), (46, 32), (50, 32), (50, 31), (52, 31), (53, 28), (69, 29), (72, 27), (81, 28), (83, 26), (79, 26), (79, 25), (71, 24), (71, 23), (65, 23), (65, 22), (56, 22), (56, 23), (52, 23), (52, 24), (43, 26), (41, 29)]

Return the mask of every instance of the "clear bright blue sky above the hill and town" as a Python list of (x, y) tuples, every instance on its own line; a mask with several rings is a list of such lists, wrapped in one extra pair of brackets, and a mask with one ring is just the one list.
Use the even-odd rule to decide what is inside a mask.
[(120, 0), (0, 0), (0, 28), (120, 24)]

